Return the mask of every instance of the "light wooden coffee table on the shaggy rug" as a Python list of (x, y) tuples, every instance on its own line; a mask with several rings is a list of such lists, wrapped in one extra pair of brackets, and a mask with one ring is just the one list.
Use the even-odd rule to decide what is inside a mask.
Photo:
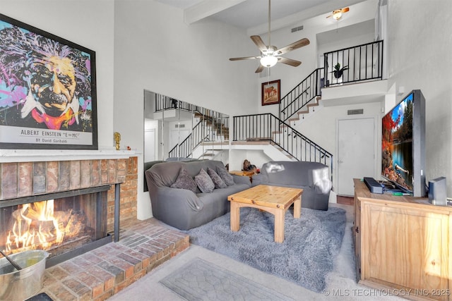
[(227, 197), (231, 203), (231, 230), (240, 229), (240, 208), (253, 207), (270, 212), (275, 216), (275, 242), (284, 242), (284, 216), (294, 204), (294, 218), (299, 219), (302, 211), (302, 189), (258, 185)]

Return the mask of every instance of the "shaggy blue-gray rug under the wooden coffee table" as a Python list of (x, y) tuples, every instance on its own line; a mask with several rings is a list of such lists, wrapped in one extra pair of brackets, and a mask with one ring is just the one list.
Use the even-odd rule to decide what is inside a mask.
[(230, 230), (230, 214), (186, 231), (190, 241), (224, 254), (261, 271), (280, 276), (320, 293), (326, 274), (340, 250), (345, 232), (345, 210), (302, 208), (294, 219), (292, 208), (285, 214), (285, 240), (274, 242), (273, 214), (252, 208), (240, 209), (240, 230)]

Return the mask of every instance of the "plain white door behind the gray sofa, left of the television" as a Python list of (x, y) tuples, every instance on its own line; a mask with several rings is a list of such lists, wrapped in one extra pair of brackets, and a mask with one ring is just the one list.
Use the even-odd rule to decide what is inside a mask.
[(338, 121), (338, 195), (354, 195), (353, 178), (375, 175), (374, 118)]

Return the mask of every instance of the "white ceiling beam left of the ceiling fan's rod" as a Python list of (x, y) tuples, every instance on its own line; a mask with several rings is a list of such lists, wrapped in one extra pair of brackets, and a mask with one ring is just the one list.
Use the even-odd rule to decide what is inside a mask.
[(246, 0), (213, 1), (204, 0), (184, 10), (184, 21), (187, 25), (207, 18), (227, 8), (240, 4)]

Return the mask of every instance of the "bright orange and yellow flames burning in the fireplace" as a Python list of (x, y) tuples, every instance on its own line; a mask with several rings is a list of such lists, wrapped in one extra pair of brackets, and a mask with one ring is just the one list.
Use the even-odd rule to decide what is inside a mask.
[(72, 210), (54, 211), (54, 200), (23, 204), (13, 211), (13, 226), (6, 238), (6, 252), (48, 250), (60, 245), (67, 235), (78, 235), (83, 229), (74, 224)]

